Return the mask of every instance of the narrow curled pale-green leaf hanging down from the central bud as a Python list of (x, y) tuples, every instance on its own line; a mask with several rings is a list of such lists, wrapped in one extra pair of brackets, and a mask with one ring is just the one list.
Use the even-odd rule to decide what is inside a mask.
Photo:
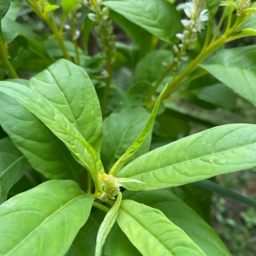
[(110, 232), (111, 228), (113, 227), (113, 224), (116, 221), (121, 200), (122, 200), (122, 193), (119, 192), (113, 207), (107, 212), (104, 220), (102, 221), (102, 224), (99, 227), (99, 231), (96, 239), (95, 256), (102, 255), (102, 247), (105, 243), (108, 233)]

